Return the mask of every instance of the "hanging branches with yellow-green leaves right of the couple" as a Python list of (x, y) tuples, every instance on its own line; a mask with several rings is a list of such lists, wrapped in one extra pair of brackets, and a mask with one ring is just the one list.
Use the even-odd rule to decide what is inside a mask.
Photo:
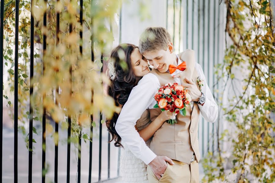
[[(224, 63), (218, 65), (218, 77), (224, 82), (221, 95), (227, 89), (230, 98), (219, 103), (223, 116), (214, 135), (218, 149), (204, 159), (204, 182), (275, 182), (272, 6), (266, 0), (222, 2), (229, 45)], [(240, 74), (235, 77), (234, 73)], [(229, 90), (228, 83), (232, 84)], [(225, 120), (230, 125), (219, 135)]]

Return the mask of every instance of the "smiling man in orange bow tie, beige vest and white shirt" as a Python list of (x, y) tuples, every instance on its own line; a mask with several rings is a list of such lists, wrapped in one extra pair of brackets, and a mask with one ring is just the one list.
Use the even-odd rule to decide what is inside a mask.
[[(183, 60), (174, 53), (170, 35), (162, 27), (147, 28), (141, 34), (139, 50), (154, 69), (131, 91), (115, 129), (131, 152), (149, 165), (150, 183), (199, 182), (199, 114), (209, 122), (215, 122), (218, 116), (218, 105), (205, 82), (203, 70), (195, 63), (194, 51), (189, 49), (181, 56), (186, 61), (184, 70)], [(197, 77), (201, 82), (204, 80), (201, 91)], [(150, 109), (151, 121), (161, 113), (159, 108), (153, 108), (154, 95), (160, 86), (175, 82), (186, 87), (192, 97), (191, 106), (186, 109), (186, 116), (177, 115), (176, 124), (163, 123), (154, 134), (149, 149), (134, 125), (145, 109)]]

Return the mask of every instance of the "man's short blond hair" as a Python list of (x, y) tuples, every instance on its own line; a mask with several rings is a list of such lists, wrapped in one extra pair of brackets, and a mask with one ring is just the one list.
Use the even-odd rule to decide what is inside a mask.
[(167, 50), (171, 37), (168, 31), (163, 27), (148, 27), (140, 36), (139, 51), (157, 52), (161, 49)]

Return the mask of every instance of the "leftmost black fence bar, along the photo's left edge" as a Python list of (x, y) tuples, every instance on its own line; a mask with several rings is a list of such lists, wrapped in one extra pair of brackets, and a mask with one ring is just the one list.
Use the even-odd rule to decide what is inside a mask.
[[(0, 82), (3, 83), (3, 43), (4, 43), (4, 1), (0, 2)], [(0, 84), (0, 98), (3, 103), (3, 84)], [(3, 119), (3, 105), (0, 105), (0, 119)], [(0, 122), (0, 162), (2, 162), (3, 121)], [(0, 165), (0, 177), (2, 177), (2, 163)]]

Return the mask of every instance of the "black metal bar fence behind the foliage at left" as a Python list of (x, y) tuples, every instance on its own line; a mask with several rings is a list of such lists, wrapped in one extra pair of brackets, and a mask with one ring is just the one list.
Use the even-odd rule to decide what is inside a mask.
[[(18, 77), (16, 77), (18, 75), (18, 27), (19, 27), (19, 0), (15, 0), (16, 2), (16, 6), (15, 6), (15, 84), (14, 84), (14, 182), (18, 182)], [(57, 0), (57, 2), (59, 2), (59, 0)], [(34, 1), (31, 0), (31, 6), (33, 6)], [(44, 0), (44, 3), (46, 4), (46, 0)], [(4, 47), (3, 47), (3, 31), (4, 31), (4, 0), (1, 0), (1, 16), (0, 16), (0, 82), (1, 82), (1, 87), (0, 87), (0, 94), (1, 94), (1, 99), (0, 99), (0, 103), (3, 103), (3, 51), (4, 51)], [(80, 0), (80, 24), (82, 26), (83, 23), (83, 0)], [(60, 32), (60, 12), (56, 13), (56, 46), (59, 45), (59, 37), (58, 37), (58, 33)], [(46, 12), (43, 15), (43, 26), (44, 28), (47, 27), (47, 16), (46, 16)], [(30, 78), (33, 78), (34, 76), (34, 17), (33, 17), (33, 12), (32, 12), (32, 8), (31, 8), (31, 31), (30, 31), (30, 37), (31, 37), (31, 47), (30, 47)], [(72, 32), (72, 24), (69, 24), (69, 32)], [(79, 36), (80, 39), (82, 39), (82, 31), (79, 32)], [(46, 34), (43, 34), (43, 52), (45, 53), (46, 51), (46, 43), (47, 43), (47, 36)], [(93, 52), (93, 44), (91, 45), (91, 61), (94, 60), (94, 52)], [(79, 47), (80, 50), (80, 55), (82, 55), (82, 45), (80, 45)], [(59, 59), (58, 56), (56, 59)], [(43, 55), (43, 60), (44, 60), (44, 55)], [(103, 55), (101, 55), (101, 61), (103, 62)], [(101, 72), (102, 72), (101, 68)], [(43, 65), (43, 70), (44, 70), (44, 65)], [(72, 71), (72, 68), (70, 67), (70, 74)], [(30, 82), (30, 95), (33, 94), (33, 83)], [(59, 92), (59, 87), (56, 87), (56, 92)], [(56, 96), (55, 96), (56, 97)], [(57, 100), (55, 100), (57, 102)], [(56, 103), (57, 104), (57, 103)], [(30, 104), (29, 104), (30, 108), (29, 108), (29, 152), (28, 152), (28, 182), (31, 183), (32, 182), (32, 167), (33, 167), (33, 105), (31, 103), (30, 100)], [(0, 119), (3, 119), (3, 106), (0, 105)], [(93, 121), (93, 115), (90, 116), (91, 119), (91, 123), (90, 123), (90, 144), (89, 144), (89, 176), (88, 176), (88, 182), (100, 182), (100, 181), (104, 181), (101, 178), (101, 160), (102, 160), (102, 124), (101, 122), (99, 122), (100, 126), (99, 126), (99, 147), (98, 149), (94, 149), (94, 150), (99, 150), (99, 157), (97, 158), (92, 158), (92, 146), (93, 146), (93, 126), (92, 126), (92, 121)], [(100, 115), (100, 119), (99, 121), (102, 120), (102, 115)], [(55, 133), (59, 133), (58, 132), (58, 128), (59, 128), (59, 124), (55, 123)], [(1, 121), (0, 123), (0, 177), (1, 177), (1, 181), (2, 182), (2, 151), (3, 151), (3, 146), (2, 146), (2, 134), (3, 132), (3, 123)], [(43, 108), (43, 115), (42, 115), (42, 183), (45, 182), (45, 178), (46, 178), (46, 135), (44, 135), (46, 133), (46, 109)], [(107, 131), (106, 131), (107, 133)], [(68, 116), (68, 143), (67, 143), (67, 179), (66, 182), (70, 182), (70, 149), (71, 149), (71, 117)], [(110, 140), (110, 135), (108, 134), (108, 140)], [(108, 177), (107, 180), (110, 179), (110, 144), (108, 144)], [(98, 180), (92, 180), (92, 160), (97, 160), (99, 161), (99, 174), (98, 174)], [(77, 165), (77, 182), (81, 182), (81, 132), (79, 134), (79, 144), (78, 144), (78, 165)], [(119, 176), (119, 171), (117, 171), (117, 177)], [(58, 178), (58, 142), (55, 144), (55, 148), (54, 148), (54, 182), (57, 183), (57, 179)], [(106, 180), (106, 179), (105, 179)], [(20, 181), (19, 181), (20, 182)]]

